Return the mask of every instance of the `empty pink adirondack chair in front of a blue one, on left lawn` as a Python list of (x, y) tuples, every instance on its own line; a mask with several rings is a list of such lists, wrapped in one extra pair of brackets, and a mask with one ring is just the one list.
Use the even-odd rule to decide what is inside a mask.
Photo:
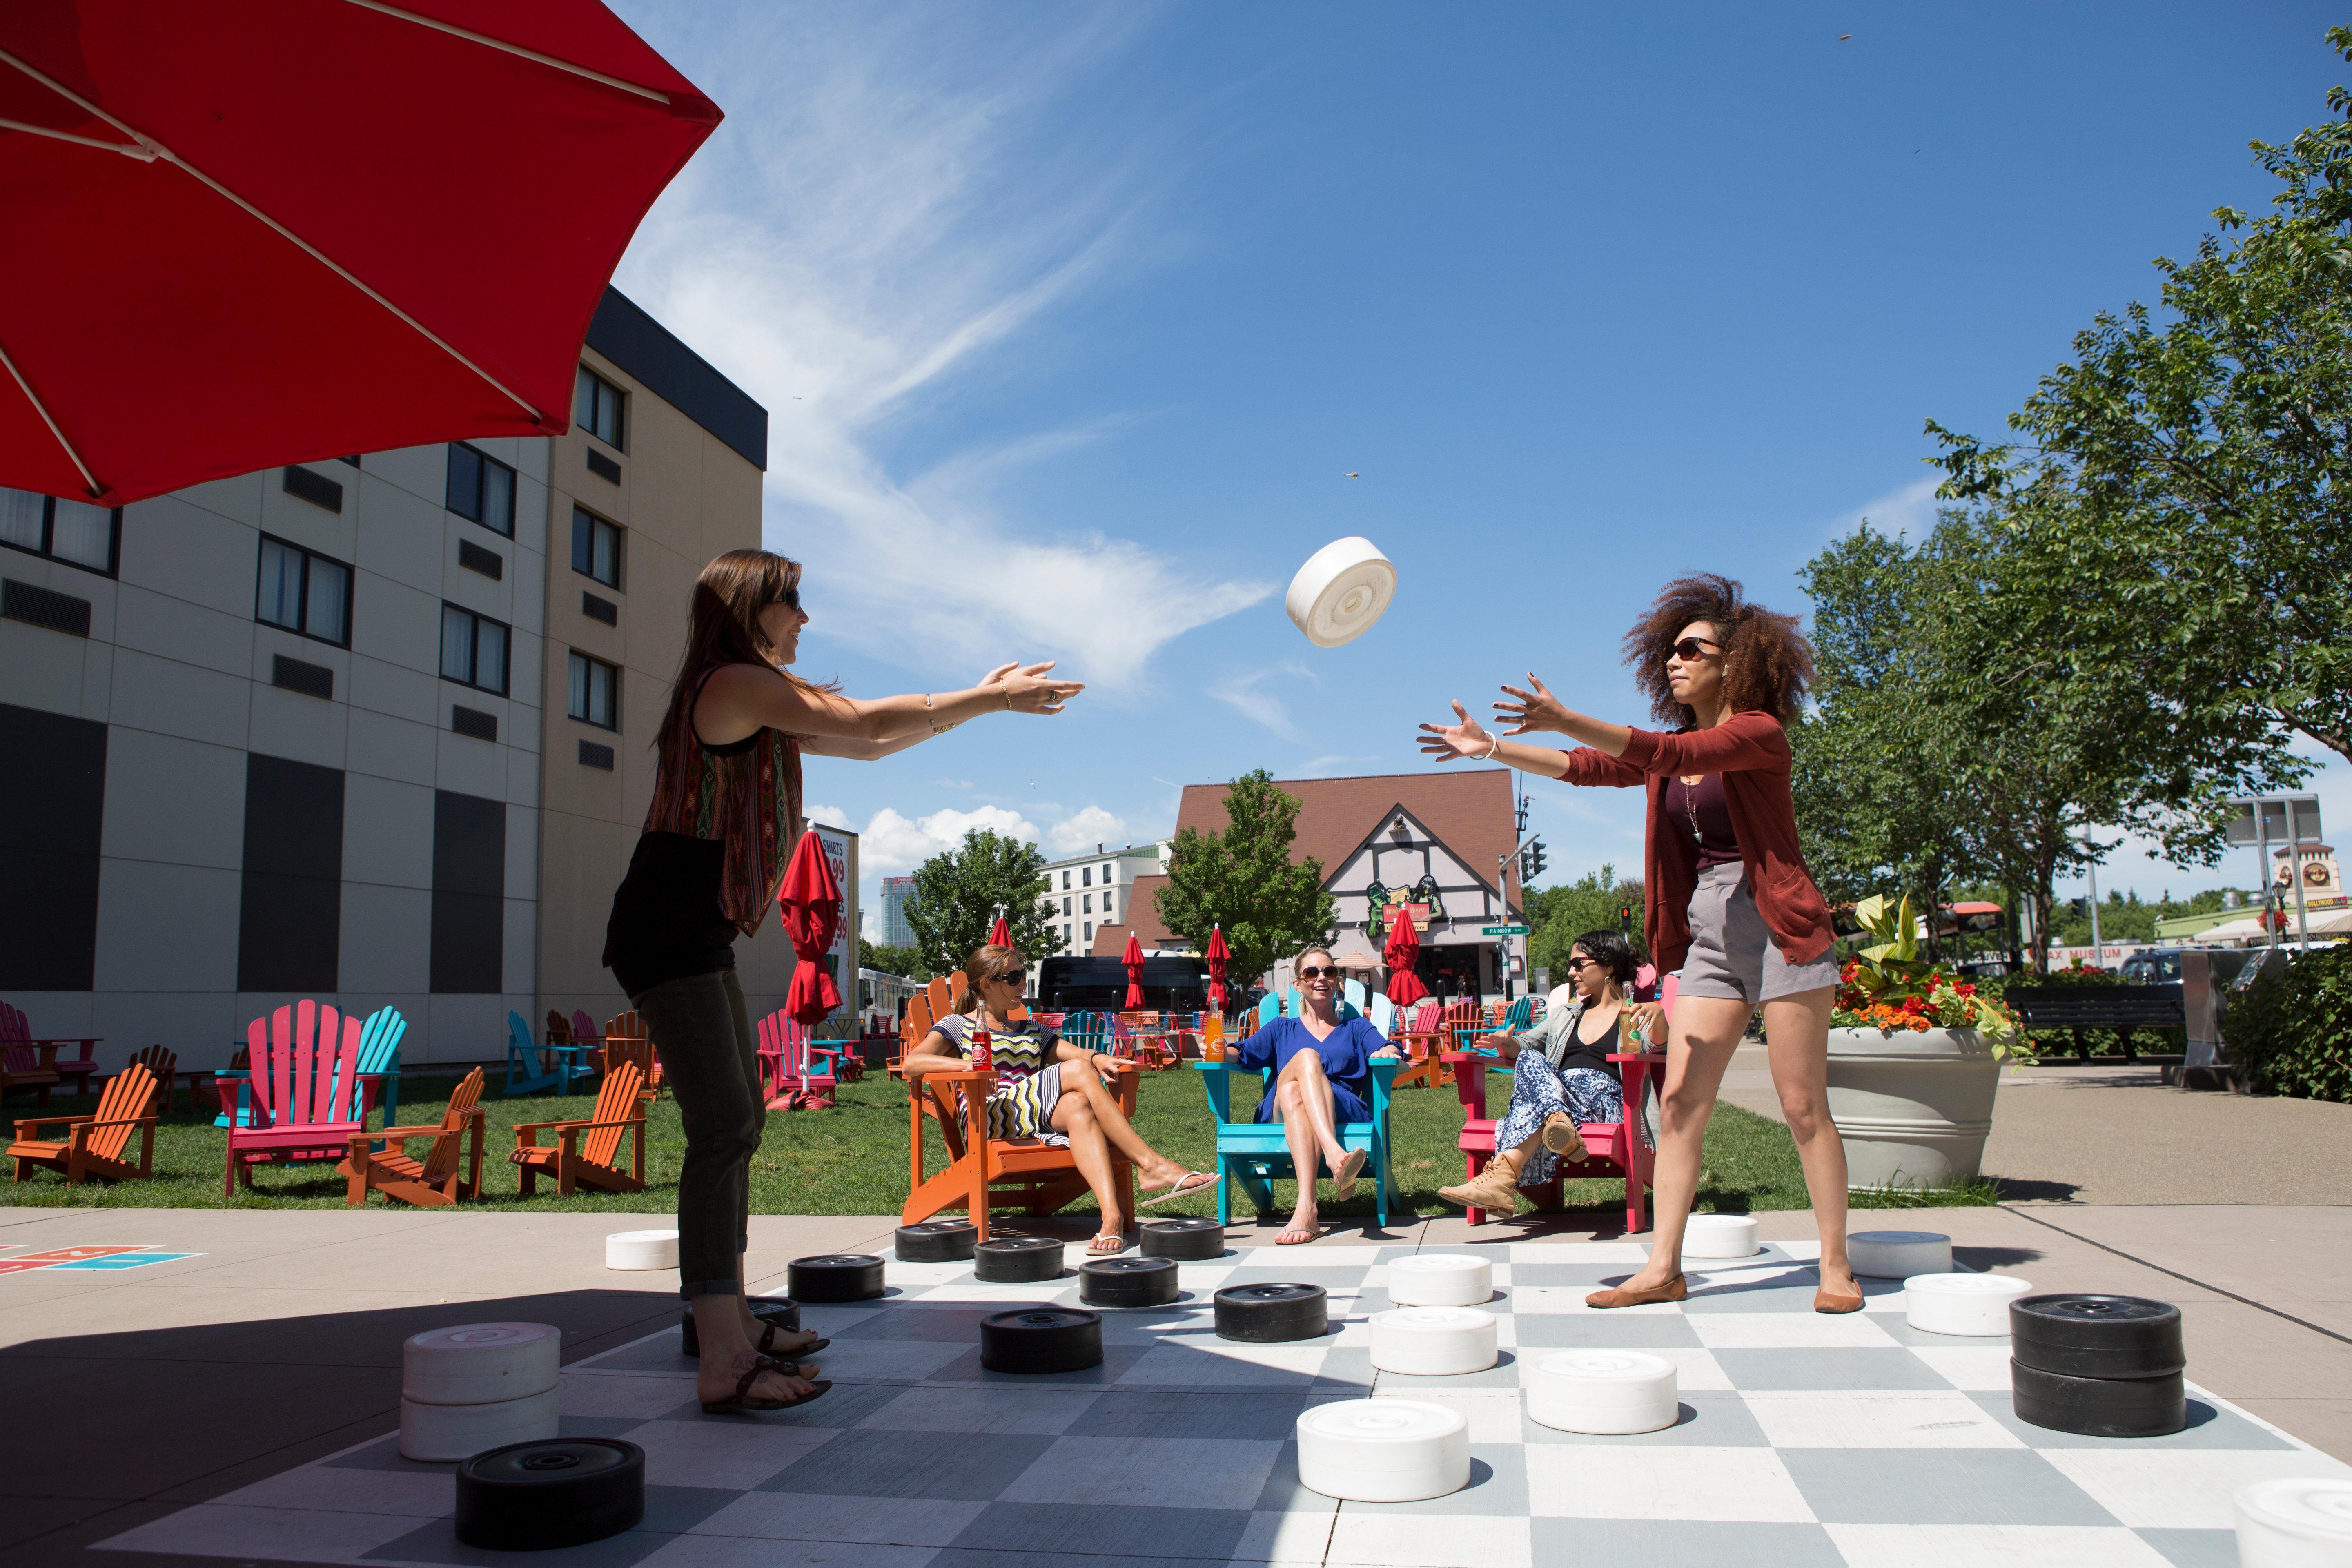
[(249, 1126), (238, 1126), (238, 1084), (221, 1084), (228, 1161), (221, 1194), (254, 1185), (254, 1166), (294, 1159), (343, 1159), (353, 1133), (367, 1131), (360, 1091), (360, 1020), (308, 997), (245, 1030), (252, 1058)]

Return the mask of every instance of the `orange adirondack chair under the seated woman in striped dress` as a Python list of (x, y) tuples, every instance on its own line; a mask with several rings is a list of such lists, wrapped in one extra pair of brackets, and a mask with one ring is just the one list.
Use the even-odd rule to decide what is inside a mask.
[[(957, 976), (962, 980), (962, 976)], [(931, 980), (931, 987), (906, 1009), (906, 1048), (913, 1051), (931, 1023), (938, 1020), (934, 1006), (953, 1009), (962, 985)], [(903, 1077), (901, 1063), (891, 1063), (891, 1074)], [(1136, 1114), (1136, 1065), (1117, 1065), (1120, 1110)], [(995, 1086), (993, 1072), (924, 1072), (906, 1084), (908, 1124), (908, 1199), (898, 1211), (901, 1225), (920, 1225), (948, 1208), (964, 1208), (971, 1225), (988, 1239), (988, 1208), (1014, 1208), (1044, 1215), (1087, 1192), (1087, 1178), (1077, 1173), (1070, 1150), (1049, 1143), (1014, 1143), (988, 1135), (988, 1091)], [(938, 1124), (938, 1138), (948, 1150), (948, 1166), (924, 1175), (922, 1124)], [(1110, 1173), (1120, 1185), (1120, 1208), (1124, 1218), (1136, 1213), (1136, 1168), (1117, 1150), (1110, 1152)]]

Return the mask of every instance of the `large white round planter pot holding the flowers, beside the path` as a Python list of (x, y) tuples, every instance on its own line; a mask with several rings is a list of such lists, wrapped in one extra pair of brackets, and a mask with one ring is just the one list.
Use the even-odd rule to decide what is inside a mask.
[(1846, 1140), (1846, 1180), (1973, 1180), (1999, 1074), (1976, 1030), (1830, 1030), (1830, 1119)]

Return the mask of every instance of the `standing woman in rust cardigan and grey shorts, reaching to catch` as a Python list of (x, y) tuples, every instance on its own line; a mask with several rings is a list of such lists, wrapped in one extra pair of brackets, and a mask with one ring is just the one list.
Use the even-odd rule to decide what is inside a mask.
[(1788, 731), (1813, 677), (1795, 616), (1776, 616), (1722, 576), (1677, 578), (1625, 632), (1625, 663), (1670, 731), (1569, 710), (1541, 679), (1503, 686), (1505, 736), (1557, 731), (1576, 750), (1515, 745), (1454, 703), (1423, 724), (1442, 762), (1505, 762), (1573, 785), (1644, 785), (1644, 931), (1661, 971), (1679, 971), (1658, 1135), (1649, 1262), (1595, 1307), (1682, 1300), (1682, 1229), (1698, 1192), (1715, 1091), (1750, 1016), (1764, 1009), (1773, 1086), (1804, 1161), (1820, 1225), (1816, 1312), (1858, 1312), (1846, 1265), (1846, 1147), (1830, 1121), (1830, 1001), (1837, 994), (1830, 907), (1797, 849)]

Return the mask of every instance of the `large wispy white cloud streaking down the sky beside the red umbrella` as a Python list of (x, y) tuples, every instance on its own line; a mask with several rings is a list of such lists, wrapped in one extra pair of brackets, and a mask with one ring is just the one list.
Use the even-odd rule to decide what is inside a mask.
[(894, 421), (1009, 369), (1040, 317), (1150, 259), (1164, 160), (1148, 127), (1054, 125), (1150, 16), (746, 7), (701, 24), (703, 87), (729, 120), (654, 207), (621, 287), (769, 407), (767, 543), (807, 562), (816, 637), (922, 670), (1049, 656), (1117, 696), (1174, 637), (1275, 592), (1120, 538), (1115, 517), (1051, 538), (995, 512), (1004, 473), (1117, 416), (913, 475), (889, 454)]

